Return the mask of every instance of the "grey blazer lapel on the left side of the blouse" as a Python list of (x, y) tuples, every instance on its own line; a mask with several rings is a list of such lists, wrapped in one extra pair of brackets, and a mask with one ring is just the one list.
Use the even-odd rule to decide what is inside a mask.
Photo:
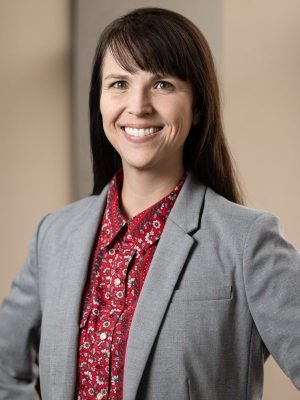
[(53, 332), (51, 338), (49, 364), (54, 385), (51, 385), (52, 397), (49, 398), (74, 399), (81, 297), (105, 203), (106, 190), (72, 221), (74, 226), (70, 226), (69, 246), (61, 260), (64, 272), (59, 298), (54, 299), (53, 304), (59, 333)]

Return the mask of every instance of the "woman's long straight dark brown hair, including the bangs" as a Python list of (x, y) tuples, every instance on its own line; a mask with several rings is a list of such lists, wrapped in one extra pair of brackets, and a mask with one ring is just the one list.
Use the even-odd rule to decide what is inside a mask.
[(93, 194), (99, 194), (121, 167), (121, 158), (104, 133), (99, 110), (101, 69), (108, 49), (129, 72), (138, 67), (192, 84), (194, 111), (199, 112), (200, 120), (186, 139), (184, 166), (217, 193), (242, 204), (242, 191), (224, 136), (219, 87), (207, 41), (190, 20), (161, 8), (136, 9), (109, 24), (99, 38), (89, 97)]

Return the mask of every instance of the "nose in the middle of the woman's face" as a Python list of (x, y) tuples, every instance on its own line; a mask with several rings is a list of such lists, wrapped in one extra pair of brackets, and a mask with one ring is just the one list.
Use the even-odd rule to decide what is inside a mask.
[(127, 111), (136, 117), (143, 117), (153, 112), (151, 93), (148, 88), (137, 88), (130, 93)]

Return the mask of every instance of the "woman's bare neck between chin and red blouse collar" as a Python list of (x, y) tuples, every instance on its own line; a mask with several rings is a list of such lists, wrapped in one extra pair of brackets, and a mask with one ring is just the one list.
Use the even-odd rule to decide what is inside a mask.
[(123, 173), (122, 210), (127, 218), (132, 218), (170, 193), (183, 176), (184, 168), (178, 166), (159, 173), (123, 168)]

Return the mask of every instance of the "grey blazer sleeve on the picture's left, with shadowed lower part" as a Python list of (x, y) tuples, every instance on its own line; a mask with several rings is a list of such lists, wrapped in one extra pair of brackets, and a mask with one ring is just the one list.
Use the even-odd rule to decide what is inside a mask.
[(40, 398), (36, 391), (41, 323), (37, 243), (43, 220), (31, 241), (28, 258), (0, 310), (1, 400)]

